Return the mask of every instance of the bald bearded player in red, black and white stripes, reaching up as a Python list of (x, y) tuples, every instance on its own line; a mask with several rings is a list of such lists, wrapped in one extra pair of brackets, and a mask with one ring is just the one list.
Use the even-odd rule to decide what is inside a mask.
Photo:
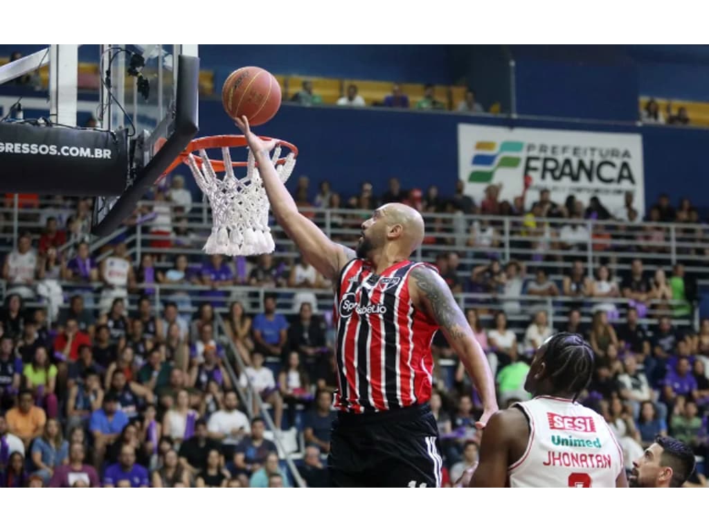
[(428, 406), (431, 338), (440, 328), (459, 355), (484, 403), (477, 425), (497, 411), (483, 350), (437, 271), (409, 260), (423, 241), (423, 218), (403, 204), (386, 204), (362, 223), (354, 252), (333, 243), (298, 213), (247, 119), (247, 138), (274, 215), (307, 262), (333, 281), (337, 327), (337, 419), (328, 467), (337, 487), (440, 487), (440, 443)]

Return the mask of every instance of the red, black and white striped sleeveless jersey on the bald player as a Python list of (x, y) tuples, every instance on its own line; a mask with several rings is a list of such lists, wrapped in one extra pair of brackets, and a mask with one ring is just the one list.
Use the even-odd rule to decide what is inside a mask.
[(408, 276), (415, 267), (432, 266), (404, 260), (374, 275), (371, 262), (354, 259), (342, 268), (335, 301), (337, 409), (362, 414), (430, 399), (430, 345), (438, 326), (411, 303)]

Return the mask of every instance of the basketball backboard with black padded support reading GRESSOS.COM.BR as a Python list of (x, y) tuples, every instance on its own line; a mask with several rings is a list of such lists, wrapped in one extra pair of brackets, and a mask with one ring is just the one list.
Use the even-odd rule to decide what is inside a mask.
[[(3, 162), (21, 168), (29, 177), (8, 180), (0, 188), (2, 192), (95, 196), (92, 232), (107, 235), (130, 215), (135, 203), (194, 138), (199, 55), (197, 45), (86, 48), (91, 53), (82, 52), (82, 62), (78, 45), (50, 45), (0, 67), (3, 84), (49, 64), (48, 101), (23, 99), (26, 109), (38, 106), (33, 111), (46, 118), (26, 120), (7, 113), (1, 140), (13, 147), (31, 147), (46, 143), (45, 137), (51, 133), (60, 152), (56, 158), (51, 157), (53, 153), (38, 157), (35, 152), (0, 152)], [(79, 126), (84, 126), (87, 110), (93, 111), (90, 114), (96, 118), (96, 128), (79, 130), (77, 116), (81, 116)], [(63, 127), (50, 127), (55, 125)], [(118, 149), (110, 149), (112, 139)], [(94, 153), (101, 157), (94, 157)], [(84, 157), (83, 163), (80, 157)], [(33, 172), (35, 163), (42, 171)], [(53, 176), (46, 175), (50, 173), (45, 170), (48, 164), (54, 165)], [(84, 167), (90, 176), (77, 170)], [(121, 167), (125, 171), (120, 171)], [(104, 169), (111, 170), (110, 183)], [(103, 184), (87, 186), (95, 182)]]

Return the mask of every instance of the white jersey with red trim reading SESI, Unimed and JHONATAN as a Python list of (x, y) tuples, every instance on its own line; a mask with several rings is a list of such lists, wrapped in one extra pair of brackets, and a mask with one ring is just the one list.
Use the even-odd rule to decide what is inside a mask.
[(623, 451), (602, 416), (569, 399), (540, 396), (517, 403), (530, 426), (510, 487), (615, 487)]

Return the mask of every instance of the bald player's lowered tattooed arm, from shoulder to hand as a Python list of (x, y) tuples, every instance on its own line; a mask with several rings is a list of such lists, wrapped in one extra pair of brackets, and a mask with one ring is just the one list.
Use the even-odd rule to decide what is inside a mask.
[(498, 409), (495, 380), (485, 353), (475, 339), (450, 288), (440, 275), (429, 267), (415, 267), (411, 270), (411, 280), (413, 282), (409, 284), (409, 291), (414, 304), (438, 323), (451, 348), (473, 379), (484, 406), (483, 415), (476, 426), (485, 428), (490, 416)]

